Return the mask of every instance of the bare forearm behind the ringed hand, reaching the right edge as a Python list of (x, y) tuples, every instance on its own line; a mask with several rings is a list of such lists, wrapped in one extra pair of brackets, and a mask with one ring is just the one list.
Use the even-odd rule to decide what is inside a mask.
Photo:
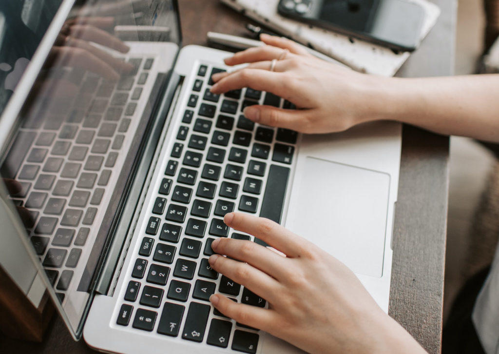
[(373, 89), (366, 120), (397, 120), (499, 142), (499, 75), (389, 78), (377, 80)]

